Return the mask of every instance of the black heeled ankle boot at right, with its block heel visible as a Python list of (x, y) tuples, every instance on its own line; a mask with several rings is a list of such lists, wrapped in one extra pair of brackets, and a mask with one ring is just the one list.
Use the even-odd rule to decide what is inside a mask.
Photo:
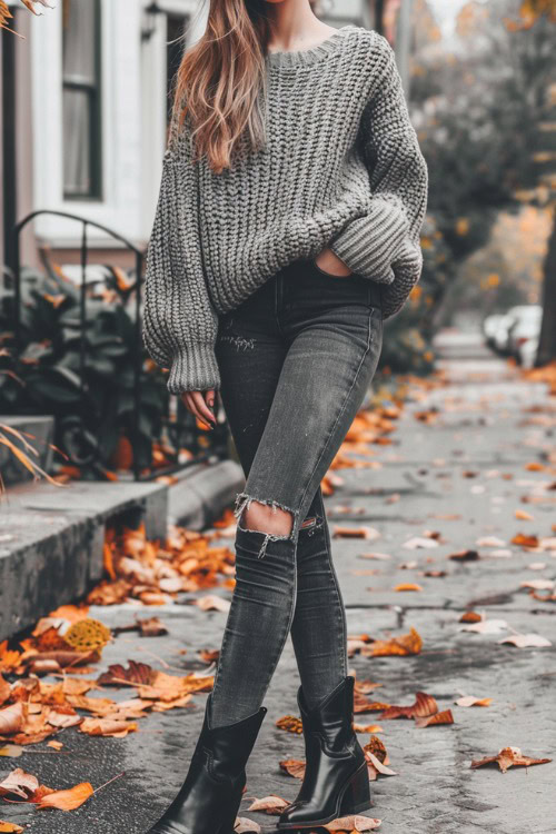
[(280, 815), (278, 828), (312, 828), (370, 807), (367, 762), (353, 728), (354, 683), (354, 677), (345, 677), (310, 711), (299, 687), (305, 777), (297, 798)]

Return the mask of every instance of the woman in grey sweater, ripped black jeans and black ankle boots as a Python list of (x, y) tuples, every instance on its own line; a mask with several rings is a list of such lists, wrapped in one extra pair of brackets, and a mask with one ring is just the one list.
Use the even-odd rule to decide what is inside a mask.
[(202, 731), (156, 834), (230, 834), (291, 637), (307, 767), (279, 828), (369, 807), (320, 480), (421, 269), (427, 169), (394, 52), (309, 0), (211, 0), (186, 51), (149, 244), (143, 337), (247, 476)]

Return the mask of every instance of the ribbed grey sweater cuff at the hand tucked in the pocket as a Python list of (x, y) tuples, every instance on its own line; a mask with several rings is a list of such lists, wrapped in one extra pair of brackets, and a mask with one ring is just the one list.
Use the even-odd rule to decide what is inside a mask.
[(391, 264), (407, 230), (403, 207), (374, 197), (368, 214), (351, 220), (329, 248), (353, 272), (389, 284), (394, 280)]

